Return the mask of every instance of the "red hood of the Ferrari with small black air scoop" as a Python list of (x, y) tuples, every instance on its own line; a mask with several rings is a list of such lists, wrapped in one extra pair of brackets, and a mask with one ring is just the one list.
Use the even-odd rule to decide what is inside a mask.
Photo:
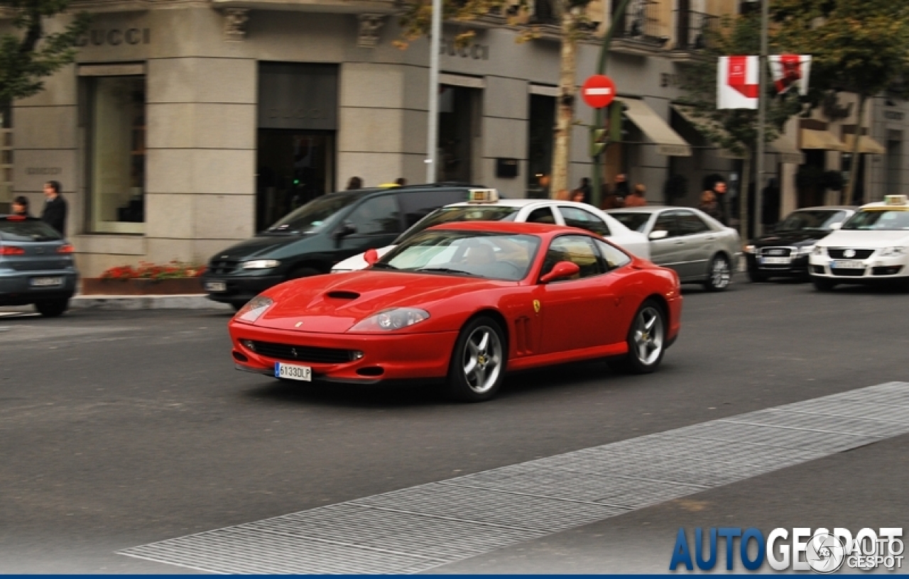
[(320, 275), (288, 281), (269, 290), (268, 295), (275, 299), (275, 305), (267, 309), (255, 325), (342, 333), (383, 309), (429, 309), (442, 299), (514, 283), (375, 270)]

